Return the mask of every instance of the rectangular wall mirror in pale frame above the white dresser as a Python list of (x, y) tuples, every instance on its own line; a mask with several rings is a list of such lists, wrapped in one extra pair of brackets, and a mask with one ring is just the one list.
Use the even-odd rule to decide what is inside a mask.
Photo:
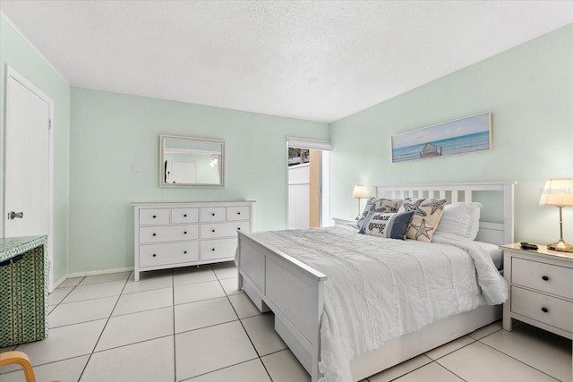
[(159, 136), (160, 187), (223, 187), (225, 142)]

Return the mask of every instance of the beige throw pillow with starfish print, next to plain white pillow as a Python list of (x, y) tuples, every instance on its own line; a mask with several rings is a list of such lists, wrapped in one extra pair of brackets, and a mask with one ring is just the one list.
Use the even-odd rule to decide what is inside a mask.
[(414, 213), (406, 237), (420, 242), (432, 242), (446, 202), (446, 199), (405, 199), (399, 212)]

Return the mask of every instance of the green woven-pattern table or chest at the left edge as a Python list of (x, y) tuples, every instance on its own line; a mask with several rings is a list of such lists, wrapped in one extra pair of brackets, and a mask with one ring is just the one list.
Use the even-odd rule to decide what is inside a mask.
[(47, 237), (0, 238), (0, 347), (47, 336)]

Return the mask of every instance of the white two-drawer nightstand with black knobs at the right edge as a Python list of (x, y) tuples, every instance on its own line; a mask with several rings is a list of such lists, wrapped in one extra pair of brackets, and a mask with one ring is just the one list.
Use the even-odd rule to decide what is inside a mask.
[(500, 246), (509, 298), (503, 304), (503, 328), (512, 318), (573, 338), (573, 253), (522, 250), (519, 243)]

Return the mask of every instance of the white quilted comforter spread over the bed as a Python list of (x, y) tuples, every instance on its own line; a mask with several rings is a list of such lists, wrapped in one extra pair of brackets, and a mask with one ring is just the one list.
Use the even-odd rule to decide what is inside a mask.
[(350, 361), (391, 338), (508, 296), (489, 255), (456, 236), (400, 241), (349, 227), (253, 236), (329, 277), (321, 318), (324, 381), (352, 380)]

